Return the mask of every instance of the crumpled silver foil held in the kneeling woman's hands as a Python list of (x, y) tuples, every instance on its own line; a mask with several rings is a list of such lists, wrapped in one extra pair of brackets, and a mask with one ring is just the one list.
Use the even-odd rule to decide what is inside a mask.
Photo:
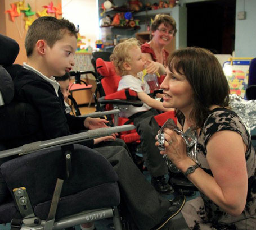
[[(170, 130), (174, 130), (178, 135), (181, 135), (183, 137), (183, 139), (186, 142), (187, 145), (187, 155), (188, 157), (190, 157), (192, 160), (194, 160), (194, 162), (198, 163), (197, 160), (197, 133), (196, 130), (192, 129), (192, 128), (188, 128), (186, 130), (186, 132), (183, 132), (182, 130), (180, 130), (178, 128), (178, 126), (176, 126), (175, 122), (173, 121), (173, 119), (168, 119), (164, 125), (160, 128), (159, 133), (157, 135), (157, 139), (159, 142), (159, 150), (160, 151), (164, 151), (164, 133), (163, 130), (164, 128), (169, 128)], [(167, 157), (166, 154), (163, 155), (163, 158), (167, 164), (167, 167), (169, 169), (169, 171), (174, 172), (174, 173), (178, 173), (180, 172), (179, 169), (176, 168), (176, 166), (170, 161), (170, 159)]]

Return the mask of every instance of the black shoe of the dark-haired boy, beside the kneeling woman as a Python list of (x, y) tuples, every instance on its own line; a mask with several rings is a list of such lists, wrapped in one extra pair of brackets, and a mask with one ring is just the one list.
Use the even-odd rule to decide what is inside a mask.
[(181, 209), (183, 208), (186, 201), (186, 197), (182, 195), (178, 195), (173, 200), (169, 200), (169, 201), (170, 201), (170, 208), (168, 209), (167, 213), (165, 213), (161, 222), (158, 225), (156, 225), (154, 228), (151, 228), (151, 230), (160, 230), (160, 229), (166, 228), (170, 223), (170, 220), (173, 217), (175, 217), (179, 213), (179, 211), (181, 211)]

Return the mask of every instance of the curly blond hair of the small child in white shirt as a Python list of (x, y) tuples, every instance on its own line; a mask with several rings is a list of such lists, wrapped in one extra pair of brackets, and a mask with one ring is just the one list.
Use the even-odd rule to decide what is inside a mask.
[(113, 50), (113, 53), (110, 56), (110, 61), (113, 62), (115, 66), (115, 71), (119, 75), (125, 75), (125, 68), (123, 66), (124, 62), (131, 62), (132, 57), (129, 56), (128, 51), (134, 47), (140, 48), (140, 42), (136, 38), (129, 38), (122, 43), (116, 45)]

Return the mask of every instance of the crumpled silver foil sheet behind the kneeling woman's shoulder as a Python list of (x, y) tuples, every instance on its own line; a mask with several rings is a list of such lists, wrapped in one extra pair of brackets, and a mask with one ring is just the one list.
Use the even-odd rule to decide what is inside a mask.
[(230, 94), (230, 107), (244, 122), (249, 133), (256, 128), (256, 100), (245, 100), (236, 94)]

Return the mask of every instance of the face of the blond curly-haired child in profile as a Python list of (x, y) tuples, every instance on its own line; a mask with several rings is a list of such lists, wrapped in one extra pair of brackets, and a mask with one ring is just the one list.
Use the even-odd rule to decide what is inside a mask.
[(137, 73), (144, 69), (146, 60), (142, 57), (141, 49), (138, 47), (132, 48), (128, 53), (129, 56), (132, 57), (132, 61), (128, 63), (129, 70), (127, 72), (128, 74), (137, 77)]

